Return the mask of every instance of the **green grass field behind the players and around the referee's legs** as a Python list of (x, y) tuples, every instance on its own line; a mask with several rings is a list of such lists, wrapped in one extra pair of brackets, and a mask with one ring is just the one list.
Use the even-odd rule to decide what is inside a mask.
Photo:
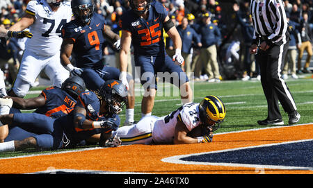
[[(287, 85), (294, 96), (298, 112), (301, 119), (298, 123), (313, 122), (313, 78), (311, 74), (300, 76), (299, 79), (286, 80)], [(159, 93), (161, 89), (168, 91), (172, 86), (168, 83), (158, 84)], [(262, 90), (261, 83), (257, 80), (241, 81), (241, 80), (225, 80), (220, 83), (195, 82), (192, 83), (194, 102), (200, 102), (204, 96), (216, 95), (225, 103), (227, 110), (225, 121), (222, 123), (216, 133), (224, 133), (230, 131), (246, 130), (252, 128), (264, 128), (258, 126), (257, 120), (265, 119), (267, 116), (267, 104)], [(31, 91), (38, 91), (35, 94), (28, 94), (26, 98), (38, 96), (40, 91), (45, 87), (34, 87)], [(135, 106), (135, 121), (141, 118), (141, 98), (143, 89), (141, 85), (136, 84), (136, 106)], [(153, 115), (164, 116), (176, 110), (181, 105), (181, 100), (177, 96), (175, 89), (172, 90), (172, 95), (163, 92), (157, 95), (154, 103)], [(285, 123), (288, 122), (288, 115), (282, 112), (282, 119)], [(32, 111), (23, 111), (32, 112)], [(125, 121), (125, 111), (120, 114), (121, 123)], [(287, 124), (286, 124), (287, 125)], [(38, 153), (38, 152), (35, 152)], [(34, 154), (31, 152), (16, 152), (16, 153), (1, 153), (0, 157), (12, 157), (17, 155)]]

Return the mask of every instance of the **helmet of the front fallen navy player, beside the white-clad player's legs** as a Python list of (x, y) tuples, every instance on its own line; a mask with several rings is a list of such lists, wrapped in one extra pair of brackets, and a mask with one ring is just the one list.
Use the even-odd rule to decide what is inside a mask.
[(120, 80), (107, 80), (100, 88), (99, 93), (102, 99), (106, 101), (111, 114), (122, 112), (127, 103), (127, 88)]

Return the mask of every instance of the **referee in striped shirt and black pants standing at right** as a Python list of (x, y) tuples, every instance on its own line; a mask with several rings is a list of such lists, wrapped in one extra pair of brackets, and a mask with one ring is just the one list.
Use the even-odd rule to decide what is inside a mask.
[(257, 54), (261, 68), (261, 83), (268, 105), (268, 116), (259, 125), (283, 125), (282, 108), (289, 116), (289, 125), (300, 120), (296, 103), (280, 75), (282, 62), (289, 46), (287, 18), (282, 0), (250, 0), (255, 35), (250, 53)]

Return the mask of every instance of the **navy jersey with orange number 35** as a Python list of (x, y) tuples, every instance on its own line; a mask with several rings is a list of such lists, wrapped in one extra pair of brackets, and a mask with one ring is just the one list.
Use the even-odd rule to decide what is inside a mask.
[(120, 19), (120, 27), (131, 33), (134, 53), (138, 55), (164, 53), (163, 22), (168, 12), (161, 3), (154, 1), (148, 14), (146, 20), (129, 10)]

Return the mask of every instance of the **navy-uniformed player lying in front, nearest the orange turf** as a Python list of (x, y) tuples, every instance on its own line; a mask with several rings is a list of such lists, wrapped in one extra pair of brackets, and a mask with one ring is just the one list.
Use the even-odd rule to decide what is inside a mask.
[(93, 135), (104, 135), (100, 146), (119, 146), (120, 139), (111, 137), (112, 130), (120, 125), (118, 113), (127, 103), (127, 89), (118, 80), (108, 80), (95, 92), (82, 92), (74, 110), (58, 119), (43, 114), (6, 114), (0, 116), (2, 123), (18, 123), (31, 133), (21, 141), (0, 143), (0, 152), (23, 151), (27, 148), (56, 150), (73, 148)]

